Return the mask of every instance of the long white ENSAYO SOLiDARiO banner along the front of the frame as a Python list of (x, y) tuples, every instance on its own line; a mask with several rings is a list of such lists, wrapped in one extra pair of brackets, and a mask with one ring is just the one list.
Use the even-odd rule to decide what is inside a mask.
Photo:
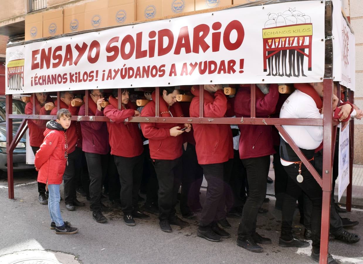
[(325, 1), (151, 21), (7, 49), (6, 93), (320, 82)]

